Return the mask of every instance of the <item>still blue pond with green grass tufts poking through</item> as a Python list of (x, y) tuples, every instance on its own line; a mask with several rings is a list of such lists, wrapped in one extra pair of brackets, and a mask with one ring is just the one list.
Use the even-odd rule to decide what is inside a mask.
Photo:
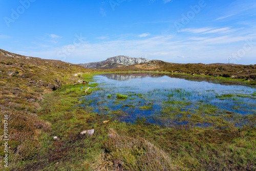
[[(178, 124), (187, 124), (184, 119), (163, 116), (178, 108), (181, 113), (188, 111), (186, 117), (190, 117), (204, 109), (202, 106), (210, 106), (218, 114), (256, 114), (256, 89), (251, 87), (191, 81), (152, 73), (102, 74), (96, 75), (94, 80), (100, 90), (84, 96), (90, 102), (83, 106), (90, 106), (95, 113), (120, 121), (134, 123), (143, 118), (148, 123), (167, 124), (173, 119)], [(117, 93), (126, 95), (127, 99), (117, 99)], [(204, 124), (207, 125), (199, 125)]]

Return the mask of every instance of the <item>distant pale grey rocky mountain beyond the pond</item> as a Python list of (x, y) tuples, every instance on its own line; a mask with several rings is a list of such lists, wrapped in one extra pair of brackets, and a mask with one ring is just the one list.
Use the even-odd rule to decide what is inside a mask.
[(150, 59), (119, 55), (119, 56), (107, 58), (106, 60), (99, 61), (99, 62), (79, 63), (78, 65), (83, 66), (85, 68), (90, 68), (90, 69), (112, 69), (112, 68), (134, 65), (136, 63), (145, 63), (148, 61), (150, 61)]

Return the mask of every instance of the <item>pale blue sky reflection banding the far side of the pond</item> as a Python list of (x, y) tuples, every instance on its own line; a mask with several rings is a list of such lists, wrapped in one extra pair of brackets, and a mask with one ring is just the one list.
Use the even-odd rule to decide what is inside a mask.
[[(116, 74), (110, 74), (116, 75)], [(161, 77), (141, 77), (133, 78), (130, 80), (114, 80), (109, 79), (104, 75), (97, 75), (94, 77), (97, 82), (103, 83), (105, 86), (110, 86), (115, 88), (120, 87), (131, 87), (133, 89), (138, 89), (141, 93), (147, 92), (154, 89), (185, 89), (185, 90), (214, 90), (218, 93), (247, 93), (252, 94), (255, 89), (246, 86), (225, 86), (221, 84), (215, 84), (205, 81), (189, 81), (180, 78), (171, 78), (168, 76)]]

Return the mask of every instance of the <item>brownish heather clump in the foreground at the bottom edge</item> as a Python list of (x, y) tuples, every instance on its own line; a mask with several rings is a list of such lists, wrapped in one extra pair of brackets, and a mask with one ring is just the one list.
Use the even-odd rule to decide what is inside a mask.
[(177, 170), (166, 153), (144, 138), (119, 136), (110, 129), (103, 148), (99, 167), (106, 170)]

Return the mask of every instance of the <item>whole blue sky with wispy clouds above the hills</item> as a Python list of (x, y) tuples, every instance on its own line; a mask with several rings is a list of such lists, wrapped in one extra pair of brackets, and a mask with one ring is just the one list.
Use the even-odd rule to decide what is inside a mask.
[(0, 49), (26, 56), (256, 64), (255, 0), (13, 0), (0, 7)]

